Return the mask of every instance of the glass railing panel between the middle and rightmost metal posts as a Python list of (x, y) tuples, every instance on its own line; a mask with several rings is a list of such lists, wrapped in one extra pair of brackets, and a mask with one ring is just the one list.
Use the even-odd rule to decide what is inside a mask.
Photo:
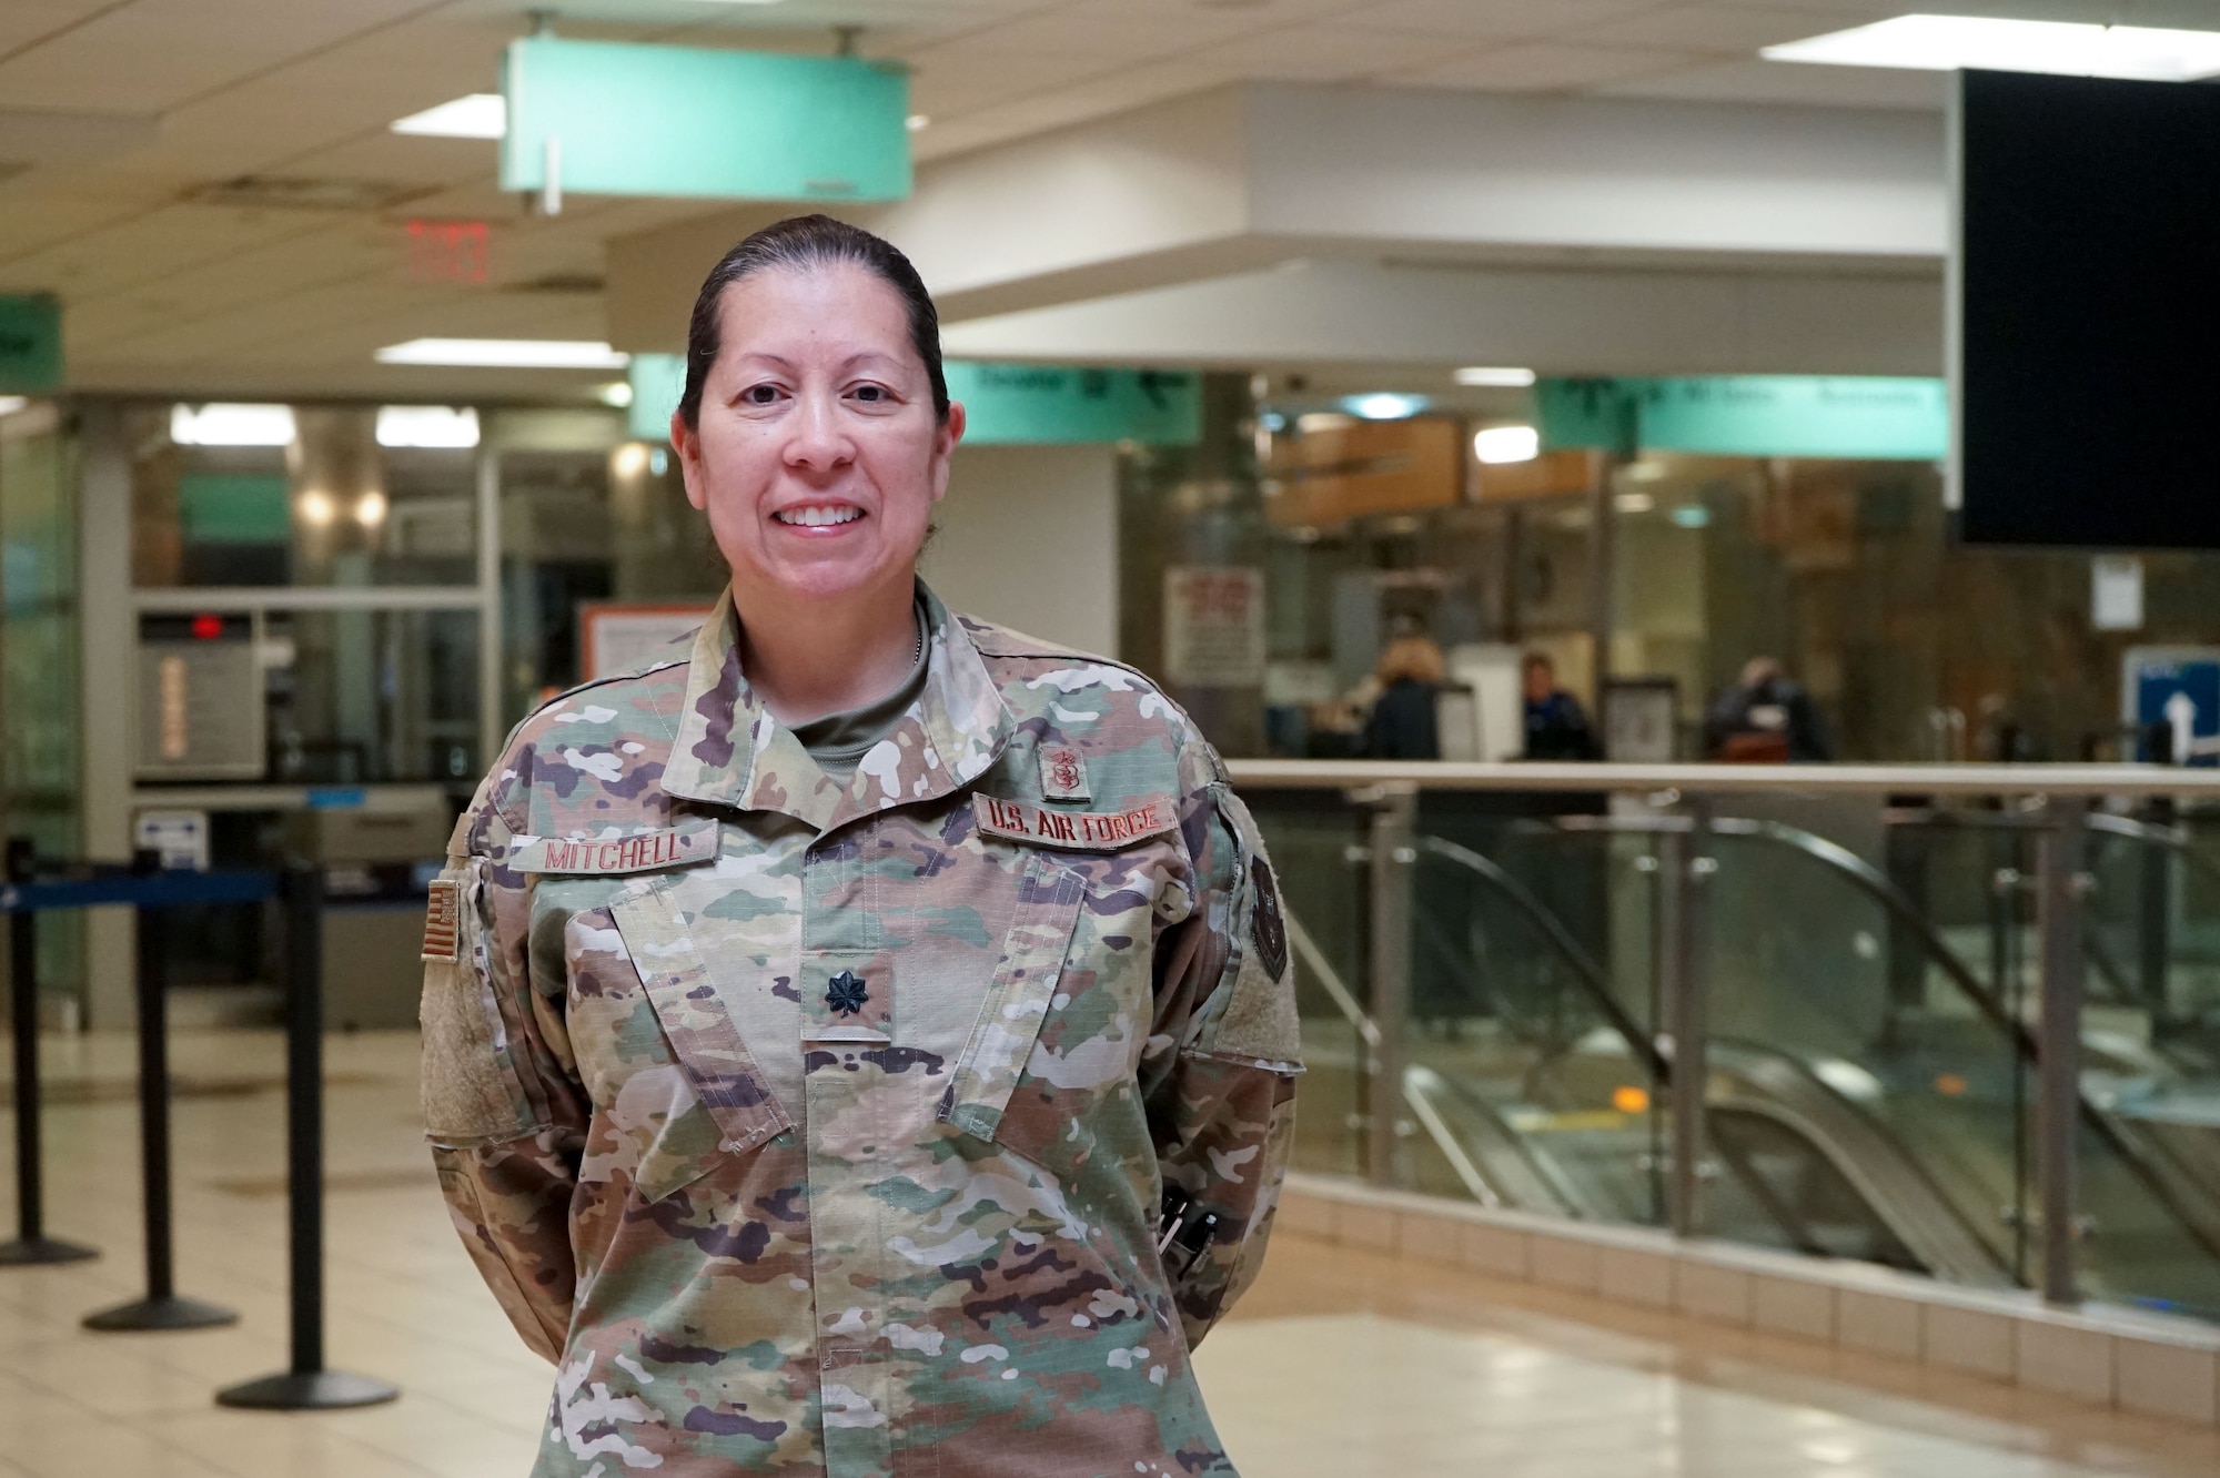
[[(1907, 857), (1878, 801), (1736, 797), (1716, 814), (1705, 979), (1718, 1181), (1760, 1201), (1789, 1247), (2022, 1283), (2034, 1079), (2016, 1003), (1891, 881)], [(1929, 897), (1954, 881), (1936, 861)], [(1958, 917), (1974, 905), (1965, 897)]]

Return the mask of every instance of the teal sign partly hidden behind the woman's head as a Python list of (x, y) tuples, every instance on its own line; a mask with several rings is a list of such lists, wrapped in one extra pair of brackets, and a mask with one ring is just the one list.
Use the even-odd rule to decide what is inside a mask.
[[(1188, 371), (950, 360), (946, 373), (948, 399), (963, 404), (966, 446), (1194, 446), (1203, 433), (1201, 382)], [(664, 439), (686, 391), (686, 357), (633, 355), (628, 375), (630, 433)]]

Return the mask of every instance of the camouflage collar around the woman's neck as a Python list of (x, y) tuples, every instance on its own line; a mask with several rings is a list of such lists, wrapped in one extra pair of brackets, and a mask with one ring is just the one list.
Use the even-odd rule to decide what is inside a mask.
[(890, 806), (952, 794), (1001, 755), (1017, 719), (970, 632), (924, 581), (926, 688), (841, 790), (770, 717), (739, 670), (739, 615), (730, 586), (695, 635), (686, 701), (664, 768), (664, 790), (737, 810), (777, 810), (819, 832)]

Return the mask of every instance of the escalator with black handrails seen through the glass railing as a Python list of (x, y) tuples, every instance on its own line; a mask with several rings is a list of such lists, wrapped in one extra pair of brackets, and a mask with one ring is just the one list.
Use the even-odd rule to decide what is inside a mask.
[[(1663, 1223), (1672, 1043), (1656, 1030), (1654, 981), (1614, 979), (1598, 956), (1641, 952), (1643, 919), (1623, 917), (1645, 908), (1645, 883), (1623, 874), (1647, 872), (1654, 883), (1656, 863), (1643, 859), (1674, 823), (1685, 826), (1674, 817), (1523, 823), (1514, 846), (1496, 848), (1503, 861), (1421, 839), (1421, 857), (1467, 888), (1463, 908), (1421, 908), (1414, 930), (1419, 974), (1432, 959), (1439, 976), (1416, 1003), (1439, 1019), (1419, 1010), (1405, 1039), (1421, 1190), (1583, 1221)], [(1618, 879), (1601, 925), (1567, 925), (1581, 885), (1570, 905), (1545, 897), (1552, 877), (1554, 892), (1567, 892), (1565, 865), (1536, 859), (1567, 848), (1587, 857), (1572, 872)], [(1714, 941), (1712, 1163), (1698, 1172), (1707, 1234), (1951, 1283), (2031, 1285), (2040, 1227), (2027, 1174), (2025, 1005), (1998, 999), (1883, 872), (1823, 837), (1718, 819), (1709, 850), (1729, 883), (1723, 892), (1740, 885), (1745, 912), (1780, 914), (1776, 932), (1787, 939)], [(1803, 894), (1803, 912), (1792, 894)], [(1585, 897), (1592, 905), (1596, 888)], [(1612, 948), (1598, 948), (1598, 930), (1614, 934), (1601, 939)], [(1876, 1005), (1878, 979), (1869, 990), (1836, 988), (1829, 961), (1863, 959), (1880, 974), (1880, 939), (1891, 954), (1916, 954), (1918, 1005)], [(1361, 1021), (1339, 981), (1334, 994)], [(2220, 1312), (2220, 1132), (2138, 1114), (2120, 1063), (2091, 1061), (2080, 1127), (2082, 1205), (2093, 1209), (2082, 1225), (2085, 1283), (2118, 1300)]]

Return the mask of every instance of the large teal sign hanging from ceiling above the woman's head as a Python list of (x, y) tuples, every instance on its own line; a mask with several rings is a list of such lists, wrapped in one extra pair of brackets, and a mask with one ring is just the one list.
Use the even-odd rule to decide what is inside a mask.
[(508, 191), (910, 193), (910, 78), (899, 64), (528, 36), (508, 44), (502, 95)]

